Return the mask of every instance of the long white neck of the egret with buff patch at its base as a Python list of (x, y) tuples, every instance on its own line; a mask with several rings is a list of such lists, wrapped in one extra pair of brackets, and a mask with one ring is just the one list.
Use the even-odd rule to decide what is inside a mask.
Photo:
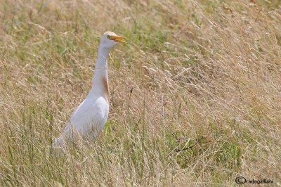
[(95, 71), (93, 72), (92, 91), (108, 98), (107, 57), (109, 50), (99, 47)]

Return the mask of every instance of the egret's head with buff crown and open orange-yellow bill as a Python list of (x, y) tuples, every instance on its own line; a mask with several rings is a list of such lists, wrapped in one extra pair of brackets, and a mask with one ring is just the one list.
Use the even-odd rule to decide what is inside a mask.
[(124, 43), (125, 38), (118, 36), (114, 32), (107, 31), (103, 34), (103, 37), (100, 39), (100, 47), (104, 49), (112, 49), (112, 47), (116, 46), (118, 43)]

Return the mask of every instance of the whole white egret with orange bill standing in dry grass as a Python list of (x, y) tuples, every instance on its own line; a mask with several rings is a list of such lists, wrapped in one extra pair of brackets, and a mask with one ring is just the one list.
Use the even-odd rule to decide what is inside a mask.
[(75, 110), (64, 131), (53, 141), (53, 147), (64, 147), (74, 136), (93, 139), (105, 126), (109, 112), (107, 79), (107, 56), (123, 37), (114, 32), (105, 32), (100, 39), (98, 57), (93, 75), (92, 88), (86, 99)]

